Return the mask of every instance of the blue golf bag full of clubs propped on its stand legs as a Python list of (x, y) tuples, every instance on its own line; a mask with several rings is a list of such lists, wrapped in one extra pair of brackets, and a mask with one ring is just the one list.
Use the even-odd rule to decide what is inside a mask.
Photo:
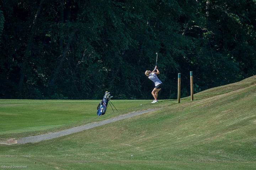
[[(101, 102), (97, 106), (97, 115), (98, 116), (104, 115), (106, 113), (108, 102), (109, 102), (109, 104), (110, 104), (110, 106), (112, 108), (113, 103), (110, 102), (110, 99), (112, 97), (113, 96), (110, 96), (110, 92), (105, 92), (105, 95), (103, 96), (103, 99), (101, 100)], [(113, 107), (116, 109), (116, 107), (114, 105), (113, 105)], [(114, 111), (113, 108), (112, 108), (112, 110)]]

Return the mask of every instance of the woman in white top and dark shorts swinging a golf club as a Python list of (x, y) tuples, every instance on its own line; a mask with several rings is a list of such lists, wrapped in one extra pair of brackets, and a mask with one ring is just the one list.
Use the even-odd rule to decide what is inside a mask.
[(159, 78), (156, 75), (159, 75), (159, 70), (158, 67), (155, 66), (155, 69), (151, 72), (149, 70), (145, 71), (145, 75), (148, 76), (148, 78), (153, 81), (155, 83), (155, 88), (153, 89), (153, 91), (151, 92), (151, 94), (154, 97), (153, 102), (151, 103), (157, 103), (158, 100), (158, 92), (161, 90), (162, 88), (162, 82), (159, 80)]

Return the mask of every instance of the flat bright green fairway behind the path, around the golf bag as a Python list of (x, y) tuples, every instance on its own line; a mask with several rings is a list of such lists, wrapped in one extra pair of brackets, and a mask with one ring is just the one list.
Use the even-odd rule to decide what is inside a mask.
[[(97, 116), (100, 100), (0, 100), (0, 139), (38, 135), (96, 122), (132, 110), (150, 100), (111, 100), (104, 116)], [(142, 104), (142, 105), (140, 105)], [(129, 109), (132, 108), (132, 109)]]

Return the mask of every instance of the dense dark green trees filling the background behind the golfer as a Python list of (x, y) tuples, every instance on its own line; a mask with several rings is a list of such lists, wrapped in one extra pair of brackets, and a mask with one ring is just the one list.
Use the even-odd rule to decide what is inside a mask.
[(256, 0), (1, 0), (0, 98), (160, 99), (256, 73)]

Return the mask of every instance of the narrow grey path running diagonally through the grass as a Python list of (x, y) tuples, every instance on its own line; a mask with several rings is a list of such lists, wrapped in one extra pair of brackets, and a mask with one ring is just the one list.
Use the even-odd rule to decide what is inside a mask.
[(48, 140), (48, 139), (58, 138), (60, 136), (70, 135), (70, 134), (76, 133), (76, 132), (81, 132), (81, 131), (91, 129), (91, 128), (94, 128), (94, 127), (110, 124), (112, 122), (116, 122), (116, 121), (119, 121), (119, 120), (128, 119), (130, 117), (142, 115), (144, 113), (149, 113), (149, 112), (155, 111), (155, 110), (158, 110), (158, 109), (148, 109), (148, 110), (128, 113), (128, 114), (120, 115), (120, 116), (117, 116), (117, 117), (112, 117), (110, 119), (102, 120), (100, 122), (93, 122), (93, 123), (90, 123), (90, 124), (73, 127), (73, 128), (69, 128), (69, 129), (66, 129), (66, 130), (58, 131), (58, 132), (46, 133), (46, 134), (43, 134), (43, 135), (28, 136), (28, 137), (24, 137), (24, 138), (21, 138), (21, 139), (18, 139), (18, 140), (8, 139), (7, 141), (0, 141), (0, 144), (10, 145), (10, 144), (25, 144), (25, 143), (40, 142), (40, 141), (44, 141), (44, 140)]

